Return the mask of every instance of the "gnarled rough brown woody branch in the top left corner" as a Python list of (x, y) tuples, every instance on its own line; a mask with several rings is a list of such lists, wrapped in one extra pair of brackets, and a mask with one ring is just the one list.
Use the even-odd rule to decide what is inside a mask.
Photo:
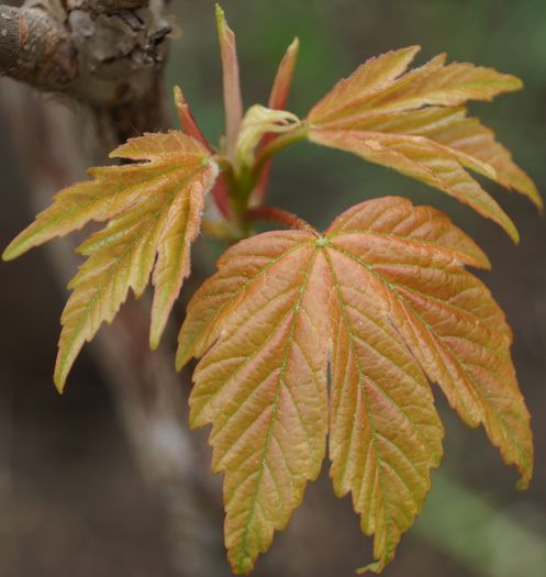
[(0, 75), (97, 107), (141, 99), (167, 52), (163, 0), (30, 0), (0, 5)]

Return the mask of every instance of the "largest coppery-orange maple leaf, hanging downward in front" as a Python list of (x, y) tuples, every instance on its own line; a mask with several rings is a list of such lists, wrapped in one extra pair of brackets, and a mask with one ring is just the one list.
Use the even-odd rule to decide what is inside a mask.
[(447, 217), (389, 197), (349, 209), (322, 235), (268, 232), (219, 259), (188, 307), (177, 366), (200, 358), (190, 423), (212, 424), (236, 573), (252, 569), (317, 476), (328, 422), (335, 492), (352, 493), (375, 535), (365, 569), (381, 570), (442, 456), (428, 381), (528, 482), (511, 332), (464, 265), (489, 262)]

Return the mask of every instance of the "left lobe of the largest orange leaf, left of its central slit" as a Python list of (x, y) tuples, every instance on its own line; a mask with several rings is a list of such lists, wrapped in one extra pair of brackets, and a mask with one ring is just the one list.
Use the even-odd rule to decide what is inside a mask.
[(252, 569), (274, 530), (286, 526), (325, 453), (327, 271), (308, 242), (312, 233), (285, 236), (256, 238), (253, 254), (245, 243), (232, 248), (223, 274), (200, 291), (223, 322), (193, 376), (190, 422), (213, 423), (213, 470), (225, 471), (225, 541), (236, 573)]

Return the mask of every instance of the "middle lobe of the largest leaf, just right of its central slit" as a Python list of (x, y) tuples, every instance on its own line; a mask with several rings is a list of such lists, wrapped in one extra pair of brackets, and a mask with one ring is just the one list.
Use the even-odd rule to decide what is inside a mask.
[[(334, 245), (335, 246), (335, 245)], [(391, 288), (352, 254), (331, 249), (337, 334), (332, 355), (331, 476), (375, 534), (379, 572), (420, 513), (443, 429), (426, 377), (399, 334)]]

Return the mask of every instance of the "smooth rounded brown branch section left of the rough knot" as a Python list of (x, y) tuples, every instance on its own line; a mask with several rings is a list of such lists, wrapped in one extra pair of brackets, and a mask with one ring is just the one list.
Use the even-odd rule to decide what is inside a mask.
[(41, 8), (0, 5), (0, 76), (62, 90), (76, 75), (76, 48), (58, 20)]

